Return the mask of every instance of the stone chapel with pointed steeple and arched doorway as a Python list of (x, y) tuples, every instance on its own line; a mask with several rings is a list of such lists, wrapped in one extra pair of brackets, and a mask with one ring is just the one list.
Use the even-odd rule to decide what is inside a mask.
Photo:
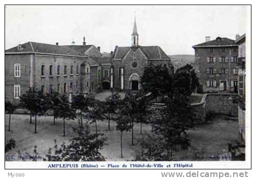
[(164, 51), (158, 46), (139, 46), (138, 37), (136, 21), (134, 21), (132, 46), (116, 46), (112, 55), (111, 88), (121, 91), (140, 89), (140, 78), (149, 63), (166, 65), (173, 73), (171, 60)]

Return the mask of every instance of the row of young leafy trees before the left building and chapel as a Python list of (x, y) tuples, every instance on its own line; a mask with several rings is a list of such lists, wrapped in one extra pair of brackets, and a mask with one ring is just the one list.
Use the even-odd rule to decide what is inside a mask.
[(23, 108), (34, 116), (34, 133), (37, 133), (36, 121), (38, 116), (52, 113), (53, 123), (56, 119), (63, 121), (63, 136), (65, 136), (65, 121), (78, 120), (79, 128), (84, 128), (83, 120), (86, 119), (87, 123), (95, 124), (95, 135), (100, 136), (98, 133), (97, 121), (107, 120), (108, 130), (111, 130), (111, 120), (116, 121), (116, 129), (120, 131), (121, 137), (121, 157), (122, 154), (122, 135), (124, 131), (132, 131), (132, 145), (134, 145), (133, 125), (134, 121), (140, 122), (140, 133), (142, 134), (142, 123), (145, 122), (147, 100), (144, 97), (143, 91), (138, 93), (128, 92), (124, 99), (118, 93), (113, 92), (105, 101), (98, 101), (93, 98), (85, 97), (83, 94), (74, 96), (72, 102), (66, 95), (43, 94), (35, 87), (29, 88), (19, 100), (18, 105), (13, 105), (6, 101), (6, 111), (10, 114), (9, 130), (11, 123), (11, 114), (16, 108)]

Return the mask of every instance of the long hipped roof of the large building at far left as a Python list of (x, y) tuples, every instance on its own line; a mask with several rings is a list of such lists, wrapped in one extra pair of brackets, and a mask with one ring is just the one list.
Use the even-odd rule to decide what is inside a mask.
[[(21, 47), (21, 50), (18, 49), (18, 46)], [(84, 56), (84, 54), (79, 53), (76, 50), (64, 46), (56, 46), (54, 44), (26, 42), (18, 46), (8, 49), (5, 52), (35, 52), (47, 54)]]

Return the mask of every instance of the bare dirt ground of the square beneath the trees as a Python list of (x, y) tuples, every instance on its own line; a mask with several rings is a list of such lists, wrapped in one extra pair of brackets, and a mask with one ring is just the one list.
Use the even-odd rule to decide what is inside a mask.
[[(47, 154), (49, 148), (54, 147), (54, 140), (60, 145), (68, 143), (69, 139), (76, 136), (72, 127), (78, 125), (77, 120), (66, 121), (66, 137), (63, 137), (62, 120), (57, 120), (53, 125), (52, 116), (38, 117), (38, 133), (34, 133), (34, 121), (29, 123), (29, 115), (13, 114), (11, 120), (11, 131), (8, 131), (9, 115), (5, 115), (5, 139), (14, 139), (16, 147), (6, 153), (6, 160), (20, 160), (18, 151), (25, 156), (28, 152), (33, 154), (34, 146), (37, 146), (39, 155)], [(101, 150), (101, 154), (107, 161), (133, 160), (135, 150), (140, 146), (135, 140), (131, 145), (131, 132), (124, 132), (123, 135), (123, 158), (120, 154), (120, 131), (116, 130), (116, 122), (111, 121), (111, 131), (107, 130), (107, 121), (98, 122), (98, 130), (104, 133), (107, 144)], [(95, 132), (95, 125), (90, 125), (90, 131)], [(143, 124), (143, 132), (151, 132), (151, 126)], [(139, 123), (134, 126), (134, 138), (140, 139)], [(194, 160), (195, 153), (203, 156), (203, 160), (211, 160), (209, 157), (227, 152), (228, 143), (239, 140), (238, 122), (227, 121), (223, 116), (216, 116), (212, 121), (196, 126), (189, 131), (192, 146), (187, 150), (179, 149), (173, 151), (175, 160)], [(196, 151), (196, 152), (195, 152)], [(12, 158), (10, 158), (12, 157)], [(215, 160), (215, 159), (213, 159)]]

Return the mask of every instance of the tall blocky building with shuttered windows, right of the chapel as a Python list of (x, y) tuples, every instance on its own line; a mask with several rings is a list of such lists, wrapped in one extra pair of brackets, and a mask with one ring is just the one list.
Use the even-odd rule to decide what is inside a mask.
[[(238, 38), (238, 35), (236, 36)], [(238, 45), (235, 40), (217, 37), (193, 46), (195, 66), (203, 92), (236, 92)]]

